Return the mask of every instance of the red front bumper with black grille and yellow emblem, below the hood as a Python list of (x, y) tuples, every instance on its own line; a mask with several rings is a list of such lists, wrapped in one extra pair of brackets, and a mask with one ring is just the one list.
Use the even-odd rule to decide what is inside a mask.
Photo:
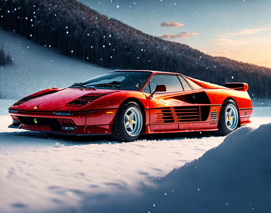
[[(108, 113), (110, 112), (110, 113)], [(18, 120), (8, 126), (31, 131), (71, 135), (111, 134), (111, 126), (116, 110), (95, 110), (89, 112), (29, 112), (11, 111)], [(73, 125), (61, 123), (61, 119), (73, 120)]]

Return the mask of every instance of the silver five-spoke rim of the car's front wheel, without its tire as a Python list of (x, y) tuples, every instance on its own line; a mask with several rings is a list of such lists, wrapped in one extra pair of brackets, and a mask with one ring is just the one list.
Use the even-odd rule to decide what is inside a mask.
[(140, 134), (143, 119), (140, 110), (134, 106), (129, 107), (124, 116), (124, 126), (128, 135), (135, 137)]

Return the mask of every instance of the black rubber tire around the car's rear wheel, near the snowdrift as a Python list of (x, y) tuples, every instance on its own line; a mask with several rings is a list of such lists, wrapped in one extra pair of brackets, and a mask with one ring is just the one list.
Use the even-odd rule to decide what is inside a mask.
[[(237, 117), (236, 117), (237, 120), (234, 121), (236, 125), (233, 125), (233, 128), (232, 128), (232, 129), (229, 129), (229, 128), (227, 127), (227, 122), (229, 122), (229, 120), (227, 120), (227, 122), (226, 122), (226, 113), (227, 113), (227, 112), (226, 112), (226, 109), (227, 109), (229, 106), (235, 107), (235, 109), (237, 110), (237, 111), (236, 111), (236, 112), (237, 112)], [(227, 134), (230, 134), (230, 133), (233, 132), (235, 129), (237, 129), (238, 125), (239, 125), (239, 111), (238, 111), (238, 108), (237, 108), (237, 106), (236, 106), (236, 104), (235, 104), (235, 102), (234, 102), (233, 100), (231, 100), (231, 99), (226, 100), (226, 101), (222, 104), (222, 106), (221, 106), (220, 115), (219, 115), (219, 120), (218, 120), (218, 125), (217, 125), (217, 128), (218, 128), (217, 133), (218, 133), (219, 135), (227, 135)]]

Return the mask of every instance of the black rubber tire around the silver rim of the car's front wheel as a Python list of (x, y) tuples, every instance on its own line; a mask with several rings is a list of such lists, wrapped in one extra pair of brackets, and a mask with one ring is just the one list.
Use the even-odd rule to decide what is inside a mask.
[[(140, 125), (140, 123), (138, 124), (139, 126), (137, 126), (136, 135), (130, 135), (128, 133), (126, 126), (125, 126), (126, 111), (131, 108), (134, 110), (136, 110), (136, 109), (138, 110), (138, 113), (140, 113), (140, 114), (138, 114), (139, 120), (140, 120), (140, 116), (141, 116), (141, 125)], [(119, 110), (117, 111), (114, 123), (111, 128), (111, 131), (112, 131), (111, 139), (117, 140), (120, 142), (131, 142), (131, 141), (136, 140), (139, 137), (139, 135), (142, 133), (143, 122), (144, 122), (144, 118), (143, 118), (142, 111), (140, 110), (140, 107), (136, 102), (129, 101), (127, 103), (122, 104), (119, 107)], [(133, 125), (133, 124), (131, 124), (131, 125)], [(128, 129), (129, 129), (129, 127), (128, 127)]]

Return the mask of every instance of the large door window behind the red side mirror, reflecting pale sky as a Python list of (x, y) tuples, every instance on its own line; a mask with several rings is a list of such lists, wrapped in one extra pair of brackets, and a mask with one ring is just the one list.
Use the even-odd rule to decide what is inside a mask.
[(156, 85), (159, 84), (165, 84), (168, 93), (184, 91), (176, 75), (154, 75), (150, 80), (151, 92), (153, 92)]

